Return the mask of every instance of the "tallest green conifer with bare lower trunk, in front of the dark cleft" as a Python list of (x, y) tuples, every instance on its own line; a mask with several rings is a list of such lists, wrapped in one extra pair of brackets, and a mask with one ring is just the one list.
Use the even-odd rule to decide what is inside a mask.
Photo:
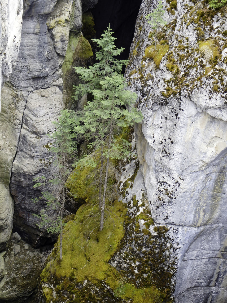
[[(92, 101), (84, 106), (83, 125), (76, 127), (78, 133), (90, 140), (91, 151), (100, 150), (100, 157), (92, 157), (87, 153), (77, 165), (93, 165), (100, 163), (99, 204), (101, 210), (100, 231), (104, 224), (104, 210), (107, 192), (108, 169), (111, 159), (122, 159), (129, 155), (129, 142), (120, 138), (122, 127), (141, 122), (142, 114), (134, 108), (136, 93), (125, 89), (125, 78), (121, 75), (122, 66), (127, 60), (117, 60), (123, 48), (116, 48), (110, 25), (102, 38), (93, 39), (100, 51), (96, 53), (97, 63), (89, 68), (75, 67), (76, 73), (83, 81), (75, 87), (75, 99), (90, 93)], [(105, 167), (104, 167), (105, 162)], [(102, 179), (104, 176), (104, 184)]]

